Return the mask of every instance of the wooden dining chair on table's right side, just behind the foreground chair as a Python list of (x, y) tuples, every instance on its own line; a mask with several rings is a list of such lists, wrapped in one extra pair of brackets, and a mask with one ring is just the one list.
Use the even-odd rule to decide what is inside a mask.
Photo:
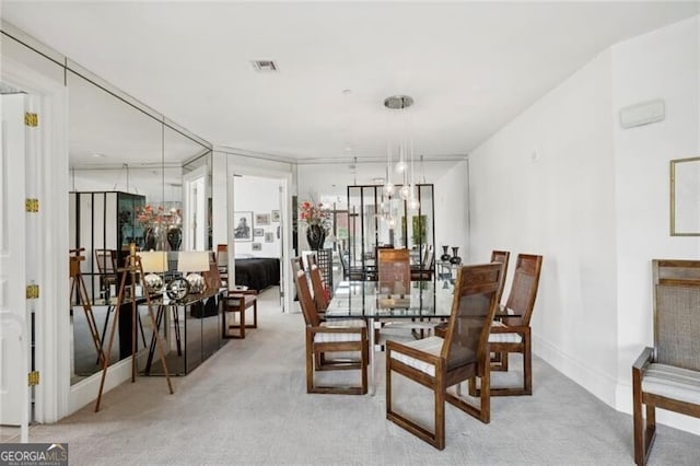
[(511, 291), (505, 303), (518, 317), (504, 317), (491, 327), (489, 348), (500, 354), (493, 361), (492, 371), (508, 371), (508, 353), (523, 354), (523, 386), (498, 388), (491, 386), (491, 396), (533, 394), (533, 348), (529, 321), (535, 307), (542, 256), (518, 254)]

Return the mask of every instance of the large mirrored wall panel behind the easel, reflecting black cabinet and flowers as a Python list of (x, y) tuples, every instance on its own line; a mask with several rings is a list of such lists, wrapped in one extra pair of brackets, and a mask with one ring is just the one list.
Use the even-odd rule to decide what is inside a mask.
[(136, 326), (128, 310), (114, 323), (130, 243), (140, 251), (211, 249), (211, 149), (77, 66), (67, 68), (66, 84), (71, 248), (84, 258), (80, 271), (93, 303), (90, 313), (72, 296), (73, 384), (101, 370), (95, 341), (106, 348), (113, 325), (110, 362), (130, 357), (135, 338), (140, 354), (151, 341), (145, 307)]

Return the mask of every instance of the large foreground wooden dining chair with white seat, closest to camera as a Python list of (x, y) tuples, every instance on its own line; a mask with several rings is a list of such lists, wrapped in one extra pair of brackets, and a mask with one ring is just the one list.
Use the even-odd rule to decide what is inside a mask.
[[(501, 264), (465, 266), (457, 271), (452, 313), (445, 338), (428, 337), (408, 343), (387, 341), (386, 418), (439, 450), (445, 447), (445, 401), (488, 423), (491, 419), (488, 339), (495, 314)], [(434, 430), (431, 432), (395, 409), (392, 374), (401, 374), (434, 395)], [(482, 387), (478, 406), (458, 389), (462, 382)]]

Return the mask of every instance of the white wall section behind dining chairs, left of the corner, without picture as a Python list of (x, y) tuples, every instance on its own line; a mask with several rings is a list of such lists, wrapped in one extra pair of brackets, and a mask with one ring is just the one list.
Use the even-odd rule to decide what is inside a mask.
[(606, 51), (469, 156), (470, 255), (544, 256), (534, 351), (608, 404), (617, 371), (610, 114)]

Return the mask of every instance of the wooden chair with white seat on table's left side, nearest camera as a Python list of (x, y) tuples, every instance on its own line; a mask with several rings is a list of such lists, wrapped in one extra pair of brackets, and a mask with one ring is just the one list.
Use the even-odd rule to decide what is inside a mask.
[[(306, 323), (306, 393), (364, 395), (368, 393), (369, 343), (364, 321), (334, 319), (322, 322), (311, 298), (303, 270), (292, 259), (296, 295)], [(328, 353), (357, 353), (357, 358), (326, 359)], [(360, 386), (317, 385), (318, 371), (360, 370)]]

